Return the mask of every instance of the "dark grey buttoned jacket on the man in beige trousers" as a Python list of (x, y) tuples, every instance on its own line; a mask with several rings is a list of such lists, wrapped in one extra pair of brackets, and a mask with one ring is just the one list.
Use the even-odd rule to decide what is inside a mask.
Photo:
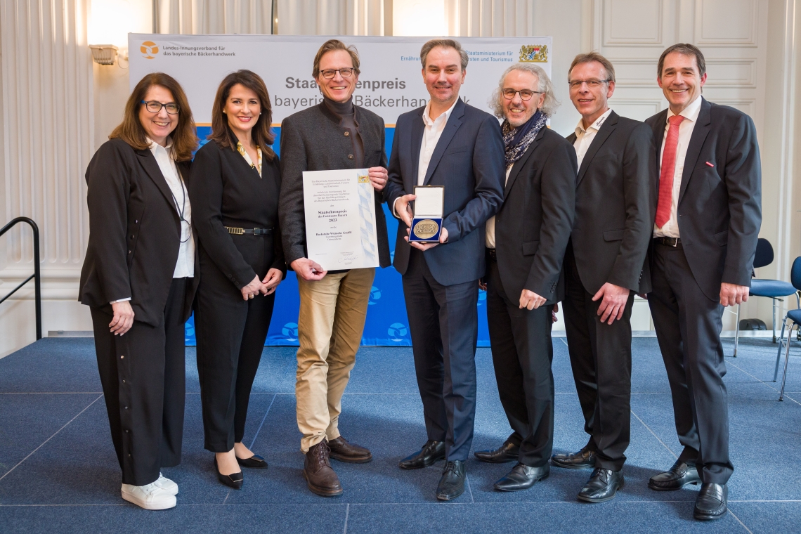
[[(364, 143), (363, 167), (387, 167), (384, 151), (384, 119), (363, 107), (354, 106), (356, 125)], [(287, 265), (307, 257), (306, 219), (303, 200), (304, 171), (355, 169), (353, 145), (345, 129), (324, 102), (298, 111), (281, 122), (281, 195), (278, 217)], [(350, 158), (348, 158), (350, 156)], [(387, 221), (381, 209), (382, 195), (376, 199), (376, 234), (381, 267), (388, 267)]]

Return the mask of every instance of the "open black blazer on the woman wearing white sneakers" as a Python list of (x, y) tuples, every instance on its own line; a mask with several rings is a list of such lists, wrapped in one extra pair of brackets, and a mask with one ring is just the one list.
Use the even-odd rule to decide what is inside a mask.
[[(189, 188), (190, 163), (177, 166)], [(135, 319), (159, 326), (181, 240), (178, 212), (159, 163), (150, 150), (137, 151), (122, 139), (111, 139), (95, 152), (86, 176), (89, 243), (78, 300), (107, 307), (131, 297)], [(184, 320), (191, 314), (198, 273), (195, 252)]]

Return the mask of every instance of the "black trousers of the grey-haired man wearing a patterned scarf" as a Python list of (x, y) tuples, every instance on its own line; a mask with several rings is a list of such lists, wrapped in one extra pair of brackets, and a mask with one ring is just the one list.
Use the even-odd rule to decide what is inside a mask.
[(510, 441), (520, 445), (521, 464), (541, 467), (553, 451), (553, 305), (521, 310), (520, 295), (506, 295), (492, 259), (486, 279), (489, 342)]

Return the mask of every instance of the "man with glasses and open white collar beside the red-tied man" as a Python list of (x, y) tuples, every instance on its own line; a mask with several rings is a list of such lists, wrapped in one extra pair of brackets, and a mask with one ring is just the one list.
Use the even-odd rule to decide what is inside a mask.
[[(578, 157), (576, 219), (565, 255), (563, 311), (570, 364), (590, 440), (557, 454), (562, 468), (594, 468), (578, 499), (610, 500), (622, 488), (630, 440), (631, 308), (650, 291), (646, 252), (654, 216), (650, 180), (654, 135), (610, 109), (614, 67), (597, 52), (568, 71), (570, 99), (582, 118), (567, 140)], [(645, 267), (645, 269), (644, 269)]]

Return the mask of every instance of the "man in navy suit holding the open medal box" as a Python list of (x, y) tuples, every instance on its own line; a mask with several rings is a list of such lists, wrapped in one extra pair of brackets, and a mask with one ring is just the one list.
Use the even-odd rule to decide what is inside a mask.
[(468, 62), (461, 45), (434, 39), (420, 57), (431, 100), (398, 118), (384, 192), (400, 219), (394, 265), (428, 434), (400, 468), (445, 459), (437, 499), (451, 500), (465, 490), (473, 441), (478, 279), (485, 221), (503, 201), (504, 144), (497, 119), (459, 99)]

